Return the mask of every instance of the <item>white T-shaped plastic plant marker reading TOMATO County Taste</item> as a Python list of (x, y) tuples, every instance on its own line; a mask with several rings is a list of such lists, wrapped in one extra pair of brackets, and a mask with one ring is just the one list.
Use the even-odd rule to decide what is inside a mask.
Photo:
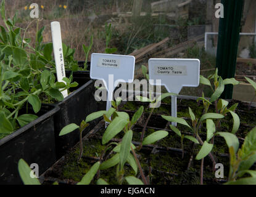
[[(182, 87), (199, 86), (200, 60), (198, 59), (149, 59), (149, 79), (152, 85), (165, 86), (168, 92), (179, 94)], [(160, 79), (161, 84), (155, 80)], [(177, 98), (171, 96), (171, 116), (177, 117)], [(176, 123), (171, 123), (177, 126)]]

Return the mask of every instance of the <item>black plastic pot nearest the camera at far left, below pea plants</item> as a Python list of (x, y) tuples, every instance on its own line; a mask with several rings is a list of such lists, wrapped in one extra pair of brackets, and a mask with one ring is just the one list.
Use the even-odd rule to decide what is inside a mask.
[(59, 107), (43, 104), (38, 119), (0, 140), (0, 185), (22, 183), (18, 171), (20, 158), (28, 164), (38, 164), (39, 174), (54, 164), (54, 114), (57, 111)]

